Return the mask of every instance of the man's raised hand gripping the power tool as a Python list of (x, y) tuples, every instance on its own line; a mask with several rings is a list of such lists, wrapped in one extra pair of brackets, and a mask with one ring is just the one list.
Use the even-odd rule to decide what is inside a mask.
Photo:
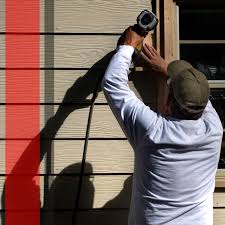
[(128, 27), (120, 37), (117, 46), (130, 45), (136, 48), (143, 40), (144, 36), (137, 34), (137, 32), (134, 31), (134, 27)]

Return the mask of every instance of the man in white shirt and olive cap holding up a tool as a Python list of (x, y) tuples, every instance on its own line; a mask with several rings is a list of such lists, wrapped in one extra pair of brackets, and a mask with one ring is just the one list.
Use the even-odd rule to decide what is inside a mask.
[(142, 41), (132, 28), (124, 32), (102, 82), (135, 153), (129, 225), (212, 225), (223, 128), (208, 100), (208, 82), (186, 61), (167, 65), (144, 45), (170, 89), (167, 115), (152, 111), (128, 87), (132, 54)]

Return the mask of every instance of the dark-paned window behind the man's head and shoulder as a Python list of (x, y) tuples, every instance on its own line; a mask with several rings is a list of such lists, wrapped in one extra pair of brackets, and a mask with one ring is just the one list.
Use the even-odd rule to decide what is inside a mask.
[[(210, 100), (225, 128), (224, 28), (224, 1), (179, 2), (180, 59), (189, 61), (206, 75), (210, 85)], [(218, 168), (225, 168), (225, 140)]]

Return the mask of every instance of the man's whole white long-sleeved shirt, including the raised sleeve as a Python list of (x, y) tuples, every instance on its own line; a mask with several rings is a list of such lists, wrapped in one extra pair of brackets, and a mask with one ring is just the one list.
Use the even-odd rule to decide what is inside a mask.
[(119, 46), (102, 82), (135, 152), (129, 225), (212, 225), (219, 117), (210, 101), (198, 120), (166, 118), (147, 107), (128, 86), (133, 52)]

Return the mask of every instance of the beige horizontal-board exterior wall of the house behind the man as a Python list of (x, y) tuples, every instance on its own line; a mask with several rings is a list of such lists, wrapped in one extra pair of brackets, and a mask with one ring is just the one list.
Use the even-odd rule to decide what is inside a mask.
[[(157, 6), (159, 2), (162, 1), (156, 1)], [(0, 0), (1, 68), (5, 68), (4, 4), (5, 0)], [(171, 7), (172, 1), (166, 4), (165, 7)], [(40, 162), (44, 225), (71, 224), (85, 148), (76, 224), (127, 224), (133, 151), (98, 86), (110, 58), (108, 53), (143, 9), (152, 9), (150, 0), (40, 0), (40, 131), (48, 137), (47, 141), (41, 140), (41, 151), (45, 153)], [(161, 19), (162, 25), (164, 18)], [(159, 49), (163, 34), (152, 34), (148, 37), (150, 42), (152, 37), (158, 38)], [(165, 48), (165, 56), (167, 52), (171, 56), (176, 49), (169, 49), (169, 45)], [(159, 109), (162, 95), (157, 91), (159, 83), (148, 72), (131, 68), (130, 88), (154, 109)], [(66, 93), (69, 99), (65, 98)], [(67, 105), (62, 105), (62, 101)], [(4, 69), (0, 70), (0, 103), (0, 173), (4, 174)], [(69, 115), (54, 116), (59, 107)], [(54, 118), (53, 123), (50, 118)], [(51, 135), (51, 131), (56, 134)], [(5, 176), (1, 176), (2, 198), (4, 182)], [(216, 225), (224, 224), (224, 199), (222, 191), (215, 194)], [(3, 214), (4, 204), (0, 206)]]

